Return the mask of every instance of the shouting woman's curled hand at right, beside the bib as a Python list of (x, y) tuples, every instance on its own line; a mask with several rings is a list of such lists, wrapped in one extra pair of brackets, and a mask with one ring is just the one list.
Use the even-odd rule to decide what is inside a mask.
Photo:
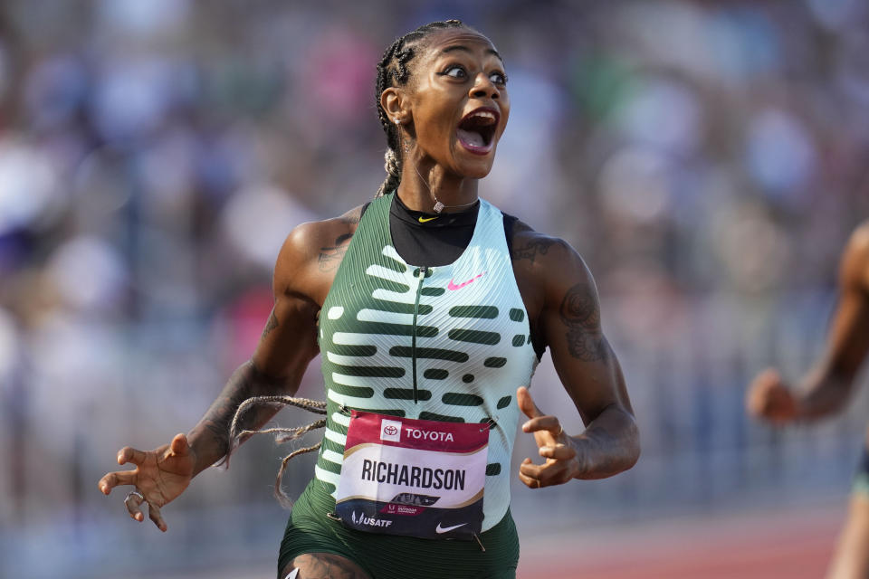
[(534, 433), (538, 453), (546, 459), (543, 464), (535, 464), (528, 458), (522, 460), (519, 479), (531, 489), (561, 485), (573, 479), (579, 470), (577, 451), (559, 419), (542, 413), (525, 386), (516, 391), (516, 401), (522, 413), (530, 418), (522, 424), (522, 432)]

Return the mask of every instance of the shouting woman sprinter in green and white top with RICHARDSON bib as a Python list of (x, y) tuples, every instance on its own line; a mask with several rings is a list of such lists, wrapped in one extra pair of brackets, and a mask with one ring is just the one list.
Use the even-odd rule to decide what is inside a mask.
[[(520, 412), (544, 459), (520, 464), (530, 489), (609, 477), (639, 455), (625, 381), (577, 252), (477, 196), (510, 113), (492, 43), (455, 20), (407, 33), (377, 65), (377, 111), (388, 145), (378, 195), (289, 234), (250, 362), (192, 431), (119, 451), (136, 469), (100, 489), (135, 485), (130, 517), (142, 521), (148, 503), (165, 531), (160, 508), (226, 455), (239, 405), (295, 394), (320, 353), (326, 432), (279, 578), (514, 577)], [(546, 347), (586, 423), (576, 436), (524, 387)]]

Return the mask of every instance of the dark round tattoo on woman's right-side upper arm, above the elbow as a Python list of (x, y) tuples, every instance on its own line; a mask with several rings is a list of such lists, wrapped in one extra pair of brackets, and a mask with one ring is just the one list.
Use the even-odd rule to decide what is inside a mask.
[(559, 309), (561, 322), (568, 328), (570, 356), (597, 362), (607, 356), (606, 338), (600, 327), (600, 307), (594, 290), (587, 283), (568, 289)]

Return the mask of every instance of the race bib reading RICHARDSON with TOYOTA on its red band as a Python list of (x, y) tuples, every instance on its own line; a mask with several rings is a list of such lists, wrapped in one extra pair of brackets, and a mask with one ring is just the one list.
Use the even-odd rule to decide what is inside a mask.
[(473, 539), (489, 426), (351, 412), (335, 513), (350, 528)]

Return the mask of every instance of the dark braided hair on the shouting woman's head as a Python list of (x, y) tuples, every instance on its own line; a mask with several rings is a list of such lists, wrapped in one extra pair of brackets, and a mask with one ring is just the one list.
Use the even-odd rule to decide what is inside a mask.
[(386, 52), (383, 53), (383, 58), (380, 59), (380, 62), (377, 62), (377, 81), (374, 86), (374, 100), (377, 103), (377, 118), (380, 119), (380, 126), (383, 127), (383, 132), (387, 134), (387, 151), (383, 156), (386, 161), (384, 168), (387, 171), (387, 178), (377, 190), (376, 197), (396, 190), (398, 184), (401, 183), (402, 168), (401, 143), (399, 142), (398, 128), (389, 121), (387, 111), (380, 104), (380, 95), (390, 87), (401, 87), (407, 84), (407, 81), (410, 79), (410, 70), (407, 68), (407, 63), (415, 56), (415, 47), (411, 44), (423, 40), (429, 33), (446, 28), (467, 28), (467, 25), (463, 24), (461, 20), (445, 20), (420, 26), (416, 30), (396, 38), (396, 41), (390, 44)]

